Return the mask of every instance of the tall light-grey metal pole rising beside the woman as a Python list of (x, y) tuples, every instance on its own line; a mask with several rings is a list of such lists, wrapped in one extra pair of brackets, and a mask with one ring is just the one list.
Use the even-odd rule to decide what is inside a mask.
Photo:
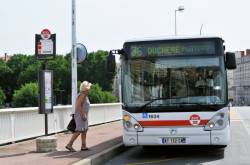
[(76, 63), (76, 2), (72, 0), (72, 51), (71, 51), (71, 68), (72, 68), (72, 113), (75, 113), (75, 102), (77, 95), (77, 63)]

